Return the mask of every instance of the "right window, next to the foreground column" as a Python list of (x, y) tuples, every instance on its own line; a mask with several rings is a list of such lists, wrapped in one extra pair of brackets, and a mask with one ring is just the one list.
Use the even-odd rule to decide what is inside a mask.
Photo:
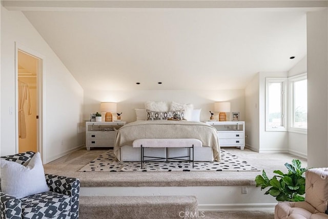
[(306, 74), (289, 78), (290, 130), (306, 132), (308, 128), (308, 80)]

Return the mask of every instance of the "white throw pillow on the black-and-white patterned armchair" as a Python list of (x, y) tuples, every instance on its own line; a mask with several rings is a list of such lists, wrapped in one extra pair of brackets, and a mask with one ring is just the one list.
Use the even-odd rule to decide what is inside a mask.
[(34, 154), (26, 166), (6, 160), (0, 163), (2, 192), (23, 198), (50, 190), (39, 152)]

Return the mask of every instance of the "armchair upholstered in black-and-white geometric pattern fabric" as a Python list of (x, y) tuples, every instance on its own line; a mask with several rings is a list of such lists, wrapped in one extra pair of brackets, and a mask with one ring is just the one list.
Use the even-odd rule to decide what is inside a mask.
[[(34, 154), (28, 151), (1, 159), (25, 165)], [(1, 218), (78, 218), (79, 180), (52, 174), (45, 174), (45, 177), (50, 188), (48, 192), (20, 199), (0, 192)]]

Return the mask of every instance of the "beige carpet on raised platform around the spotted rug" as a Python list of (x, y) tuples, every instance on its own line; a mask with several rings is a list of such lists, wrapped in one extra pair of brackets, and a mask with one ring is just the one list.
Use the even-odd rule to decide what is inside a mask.
[[(142, 186), (254, 186), (256, 171), (194, 171), (194, 172), (78, 172), (79, 169), (94, 160), (108, 149), (85, 148), (45, 164), (45, 172), (57, 175), (77, 177), (82, 187), (142, 187)], [(304, 158), (289, 153), (257, 153), (249, 149), (224, 148), (237, 155), (241, 160), (267, 171), (273, 176), (274, 170), (286, 170), (284, 164), (294, 158), (307, 163)], [(156, 182), (154, 181), (156, 178)]]

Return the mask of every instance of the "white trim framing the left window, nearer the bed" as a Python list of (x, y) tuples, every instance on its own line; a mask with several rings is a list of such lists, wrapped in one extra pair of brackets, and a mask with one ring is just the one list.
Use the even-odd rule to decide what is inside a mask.
[[(269, 124), (269, 116), (268, 116), (268, 107), (269, 107), (269, 98), (268, 98), (268, 94), (269, 94), (269, 83), (272, 82), (280, 82), (282, 83), (282, 93), (281, 93), (281, 113), (282, 113), (282, 126), (279, 127), (270, 127), (268, 126)], [(287, 112), (287, 100), (286, 100), (286, 93), (288, 91), (287, 89), (287, 82), (288, 82), (288, 78), (287, 77), (267, 77), (265, 78), (265, 131), (288, 131), (287, 129), (287, 116), (286, 116), (286, 112)]]

